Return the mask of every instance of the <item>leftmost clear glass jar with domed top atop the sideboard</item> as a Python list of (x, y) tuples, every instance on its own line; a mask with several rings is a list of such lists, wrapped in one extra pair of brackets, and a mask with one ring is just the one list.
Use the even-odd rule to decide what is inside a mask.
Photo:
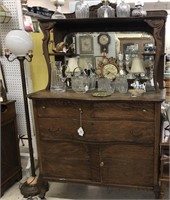
[(79, 0), (75, 5), (76, 18), (89, 18), (89, 5), (84, 0)]

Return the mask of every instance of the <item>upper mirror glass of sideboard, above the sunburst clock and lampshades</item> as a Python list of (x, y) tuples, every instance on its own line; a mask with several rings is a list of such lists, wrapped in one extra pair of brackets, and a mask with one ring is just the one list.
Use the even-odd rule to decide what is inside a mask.
[(145, 32), (79, 32), (66, 35), (64, 42), (69, 52), (79, 55), (83, 68), (87, 63), (96, 68), (102, 56), (130, 65), (131, 59), (138, 54), (144, 59), (146, 67), (151, 66), (154, 60), (155, 41), (152, 35)]

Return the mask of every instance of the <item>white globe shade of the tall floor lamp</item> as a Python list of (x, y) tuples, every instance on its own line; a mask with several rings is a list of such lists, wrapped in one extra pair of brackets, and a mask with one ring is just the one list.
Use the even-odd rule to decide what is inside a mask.
[(15, 56), (26, 56), (33, 49), (31, 36), (24, 30), (12, 30), (5, 37), (5, 46)]

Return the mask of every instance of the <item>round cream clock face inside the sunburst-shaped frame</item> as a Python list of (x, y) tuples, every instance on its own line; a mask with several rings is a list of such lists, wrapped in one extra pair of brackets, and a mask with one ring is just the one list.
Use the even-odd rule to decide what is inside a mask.
[(108, 79), (115, 79), (118, 74), (118, 69), (113, 64), (107, 64), (103, 67), (103, 76)]

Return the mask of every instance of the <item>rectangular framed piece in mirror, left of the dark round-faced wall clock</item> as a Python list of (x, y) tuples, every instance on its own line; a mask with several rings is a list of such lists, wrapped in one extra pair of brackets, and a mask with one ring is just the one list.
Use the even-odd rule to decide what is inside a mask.
[(83, 35), (79, 36), (79, 49), (80, 54), (93, 54), (93, 36), (92, 35)]

